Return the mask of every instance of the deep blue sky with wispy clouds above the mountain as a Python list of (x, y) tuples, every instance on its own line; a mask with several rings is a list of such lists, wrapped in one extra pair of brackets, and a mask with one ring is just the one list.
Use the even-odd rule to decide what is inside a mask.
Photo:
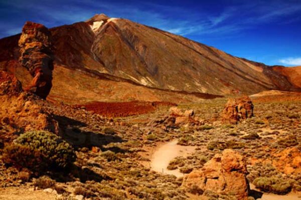
[(0, 38), (96, 13), (122, 17), (274, 65), (301, 65), (301, 0), (1, 0)]

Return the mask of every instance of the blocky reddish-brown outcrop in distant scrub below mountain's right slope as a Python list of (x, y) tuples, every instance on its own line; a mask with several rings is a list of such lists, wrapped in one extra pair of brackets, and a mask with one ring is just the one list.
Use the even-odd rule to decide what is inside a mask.
[(221, 113), (222, 120), (228, 123), (238, 121), (253, 116), (254, 105), (248, 96), (241, 98), (230, 98)]

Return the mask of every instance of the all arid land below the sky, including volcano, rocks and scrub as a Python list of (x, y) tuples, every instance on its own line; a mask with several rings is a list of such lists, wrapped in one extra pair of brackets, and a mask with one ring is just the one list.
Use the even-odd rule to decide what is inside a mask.
[(0, 53), (0, 199), (301, 199), (300, 66), (103, 14)]

